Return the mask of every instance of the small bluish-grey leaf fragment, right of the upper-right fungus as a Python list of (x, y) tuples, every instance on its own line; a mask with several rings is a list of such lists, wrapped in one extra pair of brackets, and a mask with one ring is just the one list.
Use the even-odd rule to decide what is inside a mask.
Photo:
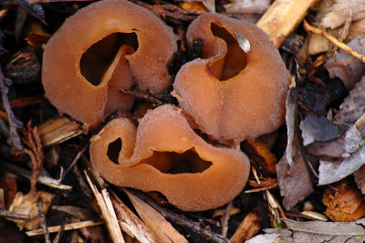
[(307, 146), (313, 142), (324, 142), (339, 137), (339, 129), (325, 117), (318, 117), (312, 112), (300, 122), (303, 145)]

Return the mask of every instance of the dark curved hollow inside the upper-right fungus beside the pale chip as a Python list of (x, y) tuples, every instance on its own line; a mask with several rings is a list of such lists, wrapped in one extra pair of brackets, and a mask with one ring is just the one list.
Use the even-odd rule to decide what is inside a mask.
[[(231, 79), (238, 75), (247, 66), (247, 57), (245, 51), (240, 48), (235, 37), (231, 35), (224, 27), (215, 23), (211, 24), (211, 30), (215, 37), (224, 39), (227, 45), (227, 54), (224, 58), (224, 67), (221, 77), (216, 77), (221, 81)], [(216, 72), (214, 72), (216, 73)]]

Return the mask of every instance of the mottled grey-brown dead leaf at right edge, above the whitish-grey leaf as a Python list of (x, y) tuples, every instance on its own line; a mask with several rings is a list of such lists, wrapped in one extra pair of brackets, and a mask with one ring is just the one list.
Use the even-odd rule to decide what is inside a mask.
[[(339, 106), (335, 116), (335, 122), (339, 124), (353, 125), (365, 111), (365, 76), (355, 87), (349, 91), (348, 97)], [(361, 136), (365, 135), (365, 129), (361, 129)]]

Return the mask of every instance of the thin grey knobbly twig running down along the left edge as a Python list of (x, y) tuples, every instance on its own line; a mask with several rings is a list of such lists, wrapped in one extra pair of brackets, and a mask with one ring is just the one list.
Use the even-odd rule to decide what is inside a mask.
[(23, 123), (16, 120), (16, 116), (14, 115), (13, 111), (11, 110), (9, 99), (7, 97), (7, 93), (9, 91), (9, 88), (7, 88), (5, 83), (11, 83), (10, 79), (5, 79), (2, 69), (0, 67), (0, 90), (1, 90), (1, 96), (4, 104), (4, 108), (8, 117), (8, 121), (10, 124), (10, 136), (8, 138), (8, 143), (11, 145), (16, 146), (17, 150), (22, 150), (23, 146), (22, 143), (20, 143), (20, 137), (16, 132), (16, 129), (22, 128)]

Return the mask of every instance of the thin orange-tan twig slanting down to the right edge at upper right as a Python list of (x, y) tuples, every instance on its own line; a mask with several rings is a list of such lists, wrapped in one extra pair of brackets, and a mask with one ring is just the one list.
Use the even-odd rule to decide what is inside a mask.
[(317, 28), (315, 26), (310, 26), (306, 20), (304, 20), (303, 27), (308, 32), (311, 32), (311, 33), (314, 33), (314, 34), (316, 34), (318, 36), (327, 38), (336, 47), (338, 47), (338, 48), (346, 51), (347, 53), (349, 53), (349, 55), (351, 55), (351, 56), (353, 56), (355, 58), (358, 58), (361, 62), (364, 62), (365, 63), (365, 57), (362, 54), (360, 54), (359, 52), (357, 52), (353, 48), (350, 48), (345, 43), (340, 42), (336, 37), (328, 34), (326, 31), (324, 31), (322, 29), (319, 29), (319, 28)]

